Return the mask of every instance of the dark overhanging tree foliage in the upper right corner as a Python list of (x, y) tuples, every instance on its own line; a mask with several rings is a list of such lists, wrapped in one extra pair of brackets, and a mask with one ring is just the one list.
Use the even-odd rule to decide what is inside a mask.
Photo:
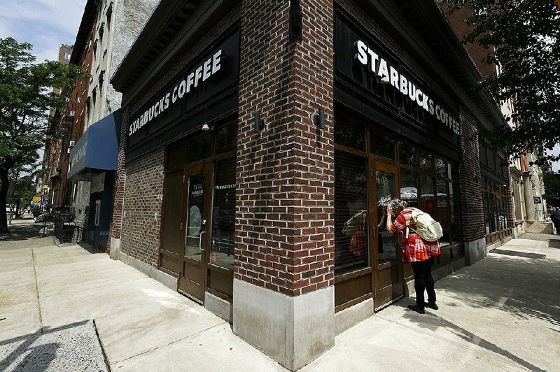
[(482, 141), (508, 155), (552, 150), (560, 142), (560, 10), (554, 1), (441, 1), (449, 12), (468, 10), (463, 42), (486, 48), (484, 62), (500, 66), (480, 87), (497, 101), (514, 99), (514, 115), (505, 119), (519, 126), (481, 131)]

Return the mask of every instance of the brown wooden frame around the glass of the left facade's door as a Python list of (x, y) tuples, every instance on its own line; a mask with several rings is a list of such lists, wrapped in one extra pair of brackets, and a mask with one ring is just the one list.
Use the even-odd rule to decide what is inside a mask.
[[(181, 209), (183, 210), (183, 214), (181, 217), (181, 227), (183, 231), (183, 244), (181, 245), (181, 255), (179, 257), (181, 266), (179, 270), (179, 281), (177, 283), (178, 291), (181, 294), (188, 296), (190, 299), (197, 301), (199, 303), (204, 303), (204, 293), (207, 290), (207, 281), (208, 281), (208, 255), (210, 250), (210, 235), (211, 235), (211, 207), (212, 207), (212, 191), (213, 187), (213, 167), (212, 162), (203, 162), (200, 164), (195, 164), (192, 166), (185, 166), (183, 169), (183, 202)], [(189, 177), (193, 176), (197, 173), (204, 174), (204, 204), (203, 208), (206, 213), (204, 213), (204, 219), (206, 222), (203, 223), (203, 229), (201, 229), (200, 234), (204, 233), (204, 236), (201, 238), (201, 245), (202, 247), (202, 255), (200, 257), (200, 262), (197, 262), (195, 259), (190, 259), (185, 257), (186, 252), (186, 234), (187, 234), (187, 213), (188, 213), (188, 192), (189, 192)], [(186, 277), (186, 268), (196, 268), (198, 270), (198, 274), (200, 276), (200, 282), (197, 283), (200, 285), (200, 296), (197, 294), (191, 293), (187, 289), (187, 280), (190, 280)], [(193, 281), (193, 280), (190, 280)], [(194, 282), (194, 281), (193, 281)]]

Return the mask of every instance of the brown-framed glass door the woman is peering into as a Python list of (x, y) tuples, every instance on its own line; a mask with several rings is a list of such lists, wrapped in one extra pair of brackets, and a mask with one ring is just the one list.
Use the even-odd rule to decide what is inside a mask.
[[(404, 294), (402, 273), (402, 232), (391, 234), (386, 229), (386, 206), (388, 201), (400, 196), (398, 192), (398, 168), (391, 164), (375, 161), (374, 198), (377, 208), (376, 233), (374, 239), (374, 307), (381, 308), (400, 299)], [(395, 220), (393, 215), (392, 220)]]

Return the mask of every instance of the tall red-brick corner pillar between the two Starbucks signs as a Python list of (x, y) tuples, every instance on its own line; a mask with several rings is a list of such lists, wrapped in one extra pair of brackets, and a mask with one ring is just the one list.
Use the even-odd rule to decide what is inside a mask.
[(287, 0), (245, 0), (241, 14), (234, 275), (289, 296), (334, 283), (333, 4), (301, 5), (301, 43)]

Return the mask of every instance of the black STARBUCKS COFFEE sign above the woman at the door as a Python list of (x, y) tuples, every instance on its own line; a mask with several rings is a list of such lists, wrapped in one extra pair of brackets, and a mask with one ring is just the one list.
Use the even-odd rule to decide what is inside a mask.
[[(374, 36), (337, 11), (335, 71), (381, 99), (396, 113), (453, 140), (460, 132), (458, 115), (414, 71)], [(442, 130), (440, 130), (442, 129)], [(455, 141), (452, 141), (455, 142)]]

